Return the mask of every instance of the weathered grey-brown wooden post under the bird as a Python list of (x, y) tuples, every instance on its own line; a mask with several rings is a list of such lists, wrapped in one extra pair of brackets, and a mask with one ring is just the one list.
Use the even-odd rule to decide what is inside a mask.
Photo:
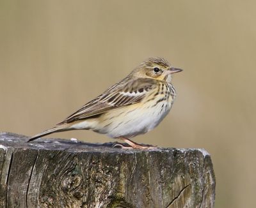
[(214, 206), (214, 172), (204, 149), (26, 140), (0, 133), (0, 207)]

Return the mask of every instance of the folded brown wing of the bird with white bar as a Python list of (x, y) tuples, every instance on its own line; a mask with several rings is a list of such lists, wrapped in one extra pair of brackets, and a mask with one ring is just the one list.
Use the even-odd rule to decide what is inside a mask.
[(97, 117), (116, 108), (138, 103), (145, 98), (146, 93), (156, 89), (157, 81), (151, 78), (138, 78), (129, 82), (121, 81), (100, 94), (94, 100), (70, 115), (60, 124), (72, 123), (77, 120)]

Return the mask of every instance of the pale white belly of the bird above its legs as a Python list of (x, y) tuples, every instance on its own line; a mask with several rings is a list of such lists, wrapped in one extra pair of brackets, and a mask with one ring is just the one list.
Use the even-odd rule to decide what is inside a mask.
[(171, 107), (171, 102), (163, 101), (157, 103), (154, 108), (145, 104), (138, 105), (132, 110), (121, 108), (120, 112), (116, 112), (115, 118), (109, 117), (93, 131), (104, 133), (112, 138), (135, 137), (155, 128), (168, 114)]

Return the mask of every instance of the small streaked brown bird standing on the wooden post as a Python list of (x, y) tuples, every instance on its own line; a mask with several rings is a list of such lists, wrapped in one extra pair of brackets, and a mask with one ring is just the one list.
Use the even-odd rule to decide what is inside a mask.
[(131, 138), (153, 130), (170, 112), (176, 97), (172, 74), (180, 71), (162, 57), (150, 57), (120, 82), (28, 142), (61, 131), (92, 130), (121, 139), (126, 145), (116, 146), (122, 149), (154, 148)]

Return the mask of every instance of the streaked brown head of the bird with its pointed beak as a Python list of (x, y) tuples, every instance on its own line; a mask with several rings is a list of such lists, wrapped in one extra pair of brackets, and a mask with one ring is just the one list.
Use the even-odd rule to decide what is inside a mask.
[(130, 76), (134, 78), (153, 78), (163, 82), (171, 82), (172, 74), (182, 71), (179, 68), (173, 68), (168, 61), (161, 57), (150, 57), (143, 61)]

